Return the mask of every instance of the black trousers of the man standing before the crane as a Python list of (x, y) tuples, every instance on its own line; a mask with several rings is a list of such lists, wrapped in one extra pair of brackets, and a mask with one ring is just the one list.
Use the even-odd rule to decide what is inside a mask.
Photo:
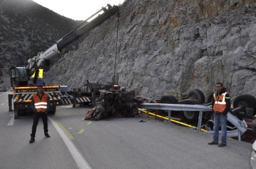
[(48, 132), (47, 114), (36, 112), (34, 114), (34, 121), (33, 121), (33, 125), (32, 125), (32, 134), (30, 134), (31, 137), (36, 136), (36, 127), (38, 126), (38, 121), (39, 121), (40, 117), (43, 120), (43, 130), (45, 131), (45, 133)]

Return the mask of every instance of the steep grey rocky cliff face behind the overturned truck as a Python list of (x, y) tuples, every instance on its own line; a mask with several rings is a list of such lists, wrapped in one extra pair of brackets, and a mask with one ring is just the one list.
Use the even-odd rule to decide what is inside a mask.
[(120, 13), (65, 54), (48, 82), (108, 83), (116, 72), (119, 85), (146, 97), (194, 88), (207, 96), (218, 81), (233, 99), (256, 96), (255, 0), (128, 0)]

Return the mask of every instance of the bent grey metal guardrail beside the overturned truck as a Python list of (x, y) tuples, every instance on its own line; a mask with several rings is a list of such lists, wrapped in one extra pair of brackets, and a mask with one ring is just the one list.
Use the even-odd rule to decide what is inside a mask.
[[(170, 122), (170, 111), (199, 111), (198, 116), (198, 126), (197, 129), (201, 130), (202, 128), (202, 117), (203, 112), (209, 112), (212, 110), (211, 106), (199, 105), (199, 104), (167, 104), (167, 103), (141, 103), (138, 104), (139, 108), (145, 108), (147, 110), (148, 117), (148, 109), (149, 110), (168, 110), (168, 121)], [(238, 128), (238, 130), (227, 131), (227, 137), (239, 137), (239, 141), (241, 141), (241, 135), (244, 134), (247, 130), (247, 125), (245, 121), (240, 121), (235, 115), (231, 113), (227, 113), (227, 121), (232, 123), (234, 126)], [(208, 133), (213, 133), (212, 131)], [(221, 133), (221, 131), (220, 131)]]

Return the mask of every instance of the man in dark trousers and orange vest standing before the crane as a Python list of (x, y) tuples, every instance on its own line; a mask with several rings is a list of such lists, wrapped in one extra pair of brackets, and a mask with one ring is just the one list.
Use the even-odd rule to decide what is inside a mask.
[(34, 143), (34, 137), (36, 136), (36, 127), (38, 126), (38, 121), (41, 117), (43, 120), (43, 130), (45, 132), (45, 137), (51, 137), (48, 134), (48, 123), (47, 123), (47, 112), (49, 106), (49, 95), (43, 92), (43, 86), (38, 86), (37, 94), (32, 97), (32, 110), (34, 112), (34, 121), (32, 125), (32, 133), (30, 134), (31, 139), (29, 143)]

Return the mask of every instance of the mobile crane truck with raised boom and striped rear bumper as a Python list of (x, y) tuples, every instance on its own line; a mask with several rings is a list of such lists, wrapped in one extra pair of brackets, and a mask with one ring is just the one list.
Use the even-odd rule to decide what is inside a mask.
[[(27, 66), (12, 66), (10, 68), (10, 84), (13, 88), (13, 94), (8, 95), (8, 104), (9, 112), (12, 111), (12, 104), (14, 106), (14, 119), (31, 111), (30, 102), (32, 95), (36, 93), (36, 85), (43, 85), (42, 77), (38, 77), (39, 74), (42, 74), (43, 62), (45, 62), (45, 65), (49, 65), (51, 57), (59, 54), (67, 45), (70, 45), (82, 35), (89, 34), (93, 28), (96, 28), (113, 15), (119, 17), (118, 6), (107, 5), (102, 7), (47, 50), (29, 59)], [(43, 89), (49, 94), (51, 100), (49, 113), (55, 114), (56, 106), (60, 104), (60, 86), (43, 86)]]

